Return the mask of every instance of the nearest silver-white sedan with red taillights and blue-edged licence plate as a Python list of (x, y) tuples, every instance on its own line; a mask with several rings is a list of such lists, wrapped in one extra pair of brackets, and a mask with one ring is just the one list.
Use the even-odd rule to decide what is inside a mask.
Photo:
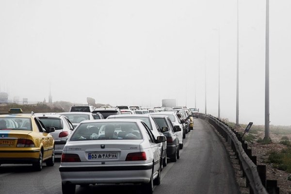
[[(125, 128), (124, 126), (130, 126)], [(99, 135), (99, 130), (105, 134)], [(142, 120), (108, 119), (83, 121), (65, 145), (59, 171), (63, 194), (74, 194), (76, 185), (141, 183), (153, 193), (161, 182), (161, 152)]]

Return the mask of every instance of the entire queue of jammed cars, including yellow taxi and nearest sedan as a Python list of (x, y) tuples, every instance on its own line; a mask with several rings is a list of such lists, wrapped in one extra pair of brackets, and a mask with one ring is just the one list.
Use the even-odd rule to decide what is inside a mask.
[[(188, 110), (183, 109), (122, 114), (118, 108), (72, 107), (75, 112), (0, 115), (0, 124), (1, 120), (9, 123), (0, 125), (0, 164), (32, 163), (41, 170), (42, 162), (51, 166), (55, 154), (62, 154), (63, 194), (74, 194), (76, 185), (99, 183), (141, 184), (142, 191), (150, 194), (154, 184), (161, 183), (167, 159), (179, 159), (186, 131), (191, 129)], [(25, 118), (29, 128), (20, 122)], [(21, 136), (25, 130), (26, 137)], [(22, 152), (33, 154), (23, 157)]]

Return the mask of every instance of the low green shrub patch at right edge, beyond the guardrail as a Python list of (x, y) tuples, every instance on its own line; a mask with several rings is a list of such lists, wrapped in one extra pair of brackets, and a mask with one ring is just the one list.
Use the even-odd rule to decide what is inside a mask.
[(291, 147), (287, 147), (279, 153), (272, 151), (269, 154), (268, 163), (273, 163), (278, 170), (291, 173)]

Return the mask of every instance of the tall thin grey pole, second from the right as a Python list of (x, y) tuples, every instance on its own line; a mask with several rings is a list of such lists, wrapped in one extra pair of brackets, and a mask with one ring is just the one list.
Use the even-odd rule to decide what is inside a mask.
[(239, 0), (237, 1), (237, 94), (236, 94), (236, 126), (239, 126)]

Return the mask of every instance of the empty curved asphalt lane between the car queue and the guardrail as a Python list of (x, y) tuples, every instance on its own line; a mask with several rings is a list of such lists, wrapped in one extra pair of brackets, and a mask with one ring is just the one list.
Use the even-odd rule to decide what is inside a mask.
[(225, 146), (212, 127), (194, 119), (182, 157), (155, 188), (157, 194), (239, 194)]

